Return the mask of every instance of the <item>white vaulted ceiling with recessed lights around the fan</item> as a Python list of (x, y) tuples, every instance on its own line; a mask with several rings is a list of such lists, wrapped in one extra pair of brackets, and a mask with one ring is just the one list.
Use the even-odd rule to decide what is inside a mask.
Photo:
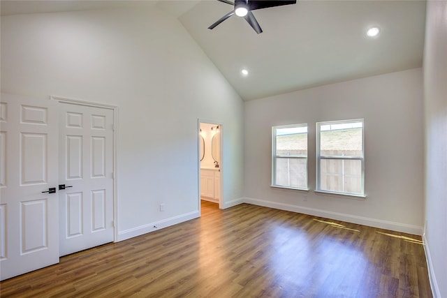
[[(422, 66), (425, 1), (300, 1), (254, 10), (256, 34), (217, 0), (1, 1), (1, 15), (156, 5), (178, 17), (244, 100)], [(372, 26), (381, 29), (367, 38)], [(249, 75), (242, 77), (240, 70)]]

